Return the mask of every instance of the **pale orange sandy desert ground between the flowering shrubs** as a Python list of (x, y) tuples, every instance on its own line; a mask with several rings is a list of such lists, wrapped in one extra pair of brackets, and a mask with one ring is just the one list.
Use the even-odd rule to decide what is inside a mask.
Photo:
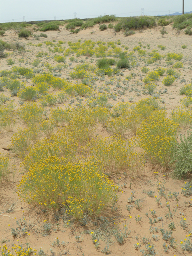
[[(32, 31), (31, 27), (28, 29)], [(120, 107), (118, 110), (115, 110), (116, 106), (122, 106), (122, 104), (126, 103), (134, 106), (140, 100), (149, 97), (157, 100), (159, 111), (166, 111), (166, 116), (169, 120), (174, 109), (184, 108), (183, 111), (191, 112), (190, 106), (186, 108), (182, 104), (182, 99), (185, 95), (180, 94), (180, 88), (192, 83), (192, 37), (186, 35), (184, 31), (177, 32), (172, 28), (172, 24), (166, 26), (168, 34), (165, 34), (164, 37), (160, 34), (160, 30), (161, 26), (156, 26), (155, 28), (143, 29), (142, 31), (136, 30), (135, 34), (125, 37), (123, 32), (115, 32), (114, 29), (108, 28), (107, 30), (100, 31), (99, 25), (87, 28), (86, 30), (80, 30), (78, 34), (72, 34), (64, 26), (60, 26), (58, 31), (46, 31), (47, 38), (40, 37), (39, 40), (36, 40), (34, 35), (29, 36), (27, 39), (18, 38), (18, 32), (15, 30), (7, 30), (4, 36), (1, 37), (1, 40), (5, 42), (19, 42), (25, 45), (25, 50), (23, 51), (5, 50), (8, 54), (7, 57), (0, 58), (0, 72), (10, 71), (10, 74), (6, 77), (20, 81), (24, 87), (36, 88), (36, 82), (34, 82), (33, 77), (41, 75), (43, 72), (45, 74), (52, 74), (52, 76), (55, 75), (55, 78), (64, 79), (66, 83), (79, 84), (82, 83), (82, 79), (72, 78), (71, 72), (74, 72), (74, 68), (81, 64), (92, 66), (92, 69), (86, 70), (87, 79), (90, 79), (91, 82), (88, 82), (88, 85), (86, 85), (90, 91), (88, 90), (84, 95), (71, 91), (66, 92), (63, 88), (58, 89), (54, 86), (49, 86), (46, 94), (39, 93), (38, 97), (33, 100), (22, 99), (22, 97), (18, 96), (21, 95), (20, 92), (17, 95), (12, 95), (12, 91), (6, 86), (0, 92), (1, 95), (3, 94), (4, 97), (8, 98), (6, 101), (2, 100), (0, 107), (6, 108), (12, 104), (12, 123), (9, 128), (1, 128), (0, 133), (1, 157), (8, 157), (10, 163), (9, 178), (4, 178), (0, 182), (1, 249), (6, 244), (7, 250), (12, 250), (13, 247), (15, 248), (13, 250), (16, 251), (20, 250), (18, 248), (25, 248), (23, 252), (26, 255), (40, 256), (99, 256), (103, 254), (116, 256), (190, 255), (192, 252), (191, 176), (182, 176), (180, 179), (175, 178), (172, 175), (172, 169), (150, 162), (150, 160), (145, 158), (144, 150), (137, 144), (138, 133), (134, 134), (135, 130), (127, 128), (123, 130), (124, 133), (122, 134), (123, 120), (121, 121), (122, 123), (118, 124), (120, 126), (118, 128), (114, 128), (111, 122), (111, 120), (114, 120), (112, 119), (112, 114), (116, 115), (114, 118), (118, 118), (118, 114), (121, 111)], [(41, 34), (40, 31), (33, 33), (36, 35)], [(111, 45), (114, 44), (116, 48), (120, 48), (119, 52), (127, 51), (128, 56), (134, 56), (134, 58), (131, 57), (129, 59), (130, 68), (121, 69), (116, 74), (111, 74), (110, 72), (108, 73), (109, 75), (103, 75), (99, 72), (96, 74), (97, 61), (102, 59), (102, 56), (96, 57), (95, 54), (92, 56), (89, 54), (77, 56), (76, 52), (70, 52), (68, 55), (65, 55), (66, 50), (71, 49), (71, 43), (80, 42), (80, 44), (83, 44), (88, 40), (96, 43), (94, 47), (99, 46), (97, 44), (98, 41), (101, 41), (101, 44), (105, 42), (103, 46), (107, 46), (108, 42), (114, 42)], [(47, 41), (51, 43), (46, 44)], [(62, 44), (57, 47), (60, 47), (63, 51), (54, 52), (54, 48), (59, 41), (62, 41)], [(38, 44), (40, 45), (38, 46)], [(165, 46), (165, 49), (161, 50), (158, 45)], [(183, 45), (187, 47), (182, 48), (181, 46)], [(133, 49), (137, 46), (140, 46), (140, 49), (146, 52), (142, 55), (142, 52), (139, 54), (138, 49), (134, 51)], [(125, 50), (126, 47), (128, 47), (128, 50)], [(113, 49), (115, 48), (108, 47), (106, 52)], [(146, 65), (148, 58), (152, 58), (152, 55), (149, 53), (152, 53), (154, 49), (162, 57)], [(42, 56), (39, 55), (41, 57), (37, 57), (39, 52), (43, 52)], [(132, 54), (129, 55), (130, 52)], [(44, 53), (47, 54), (45, 55)], [(145, 87), (146, 83), (144, 83), (144, 78), (148, 73), (143, 73), (141, 69), (144, 66), (149, 68), (150, 71), (155, 71), (158, 68), (165, 68), (166, 70), (173, 68), (174, 64), (178, 61), (172, 60), (170, 62), (167, 59), (168, 53), (182, 54), (182, 59), (179, 61), (182, 62), (183, 66), (174, 69), (179, 75), (170, 86), (162, 83), (162, 80), (166, 77), (166, 72), (159, 79), (152, 81), (155, 84), (155, 89), (150, 94)], [(61, 70), (54, 70), (54, 67), (58, 65), (56, 58), (54, 58), (56, 54), (65, 58), (64, 62), (59, 63), (64, 65)], [(106, 55), (105, 57), (118, 60), (118, 56), (114, 57), (114, 55)], [(8, 59), (12, 59), (14, 63), (8, 64)], [(38, 62), (37, 66), (34, 61)], [(26, 78), (21, 74), (14, 73), (13, 68), (15, 66), (30, 68), (33, 72), (33, 77)], [(0, 79), (5, 77), (2, 75), (3, 73), (0, 74)], [(11, 74), (15, 74), (15, 76), (11, 78)], [(97, 78), (94, 80), (94, 77)], [(86, 80), (86, 77), (84, 80)], [(58, 94), (61, 92), (63, 94), (59, 98)], [(53, 98), (57, 98), (56, 102), (45, 103), (46, 99), (43, 97), (49, 94)], [(70, 161), (72, 165), (75, 165), (76, 162), (93, 156), (90, 161), (94, 162), (96, 155), (91, 155), (88, 148), (94, 147), (90, 146), (89, 143), (96, 143), (92, 142), (92, 140), (97, 140), (98, 138), (105, 141), (105, 139), (109, 140), (109, 138), (113, 140), (113, 136), (118, 136), (118, 140), (125, 141), (125, 143), (134, 141), (137, 144), (136, 148), (138, 151), (136, 152), (138, 153), (137, 156), (141, 156), (141, 162), (138, 163), (138, 158), (133, 158), (135, 162), (130, 169), (123, 164), (122, 167), (118, 166), (118, 164), (114, 164), (114, 166), (108, 169), (107, 165), (105, 167), (107, 171), (104, 175), (107, 175), (108, 179), (114, 182), (112, 184), (116, 186), (116, 203), (111, 203), (108, 208), (101, 211), (98, 215), (84, 213), (81, 217), (76, 218), (68, 214), (66, 208), (52, 208), (52, 206), (47, 206), (46, 203), (44, 203), (45, 206), (43, 207), (43, 205), (38, 204), (38, 201), (28, 201), (25, 194), (26, 190), (23, 190), (22, 194), (18, 185), (21, 184), (21, 180), (24, 180), (23, 182), (26, 184), (30, 177), (27, 175), (29, 175), (28, 173), (31, 169), (26, 167), (27, 164), (33, 163), (31, 168), (36, 169), (42, 166), (36, 165), (34, 167), (38, 161), (39, 164), (42, 164), (38, 156), (36, 156), (36, 161), (34, 158), (30, 160), (33, 154), (40, 154), (37, 148), (41, 148), (43, 142), (38, 142), (38, 140), (47, 140), (45, 143), (52, 143), (53, 139), (51, 136), (57, 134), (60, 130), (68, 129), (66, 126), (70, 128), (76, 125), (78, 127), (78, 124), (74, 124), (75, 121), (73, 120), (70, 120), (70, 122), (64, 120), (64, 124), (60, 121), (52, 121), (53, 110), (60, 108), (65, 111), (68, 109), (71, 111), (82, 109), (82, 112), (79, 110), (80, 112), (74, 115), (79, 118), (78, 116), (81, 113), (86, 113), (86, 120), (89, 120), (88, 122), (91, 123), (93, 121), (89, 118), (91, 118), (92, 114), (89, 114), (89, 112), (87, 114), (85, 109), (90, 108), (90, 111), (92, 111), (93, 108), (98, 107), (96, 97), (101, 94), (104, 96), (104, 100), (106, 99), (105, 97), (108, 100), (107, 103), (106, 101), (100, 101), (100, 110), (106, 109), (109, 114), (106, 119), (101, 118), (100, 120), (102, 121), (98, 120), (97, 117), (94, 119), (94, 125), (91, 126), (90, 124), (93, 127), (91, 131), (89, 130), (91, 136), (84, 140), (82, 138), (81, 143), (78, 144), (78, 150), (74, 153), (76, 158)], [(42, 108), (42, 119), (32, 121), (29, 125), (26, 119), (22, 118), (22, 115), (19, 114), (21, 113), (20, 109), (26, 106), (26, 104), (36, 104), (35, 106)], [(92, 107), (92, 104), (95, 105)], [(46, 133), (40, 130), (40, 127), (42, 127), (41, 123), (44, 120), (49, 122), (49, 128), (47, 128)], [(80, 119), (78, 120), (77, 122), (81, 122)], [(111, 126), (108, 125), (109, 123)], [(190, 130), (190, 121), (188, 123), (183, 125), (180, 121), (178, 122), (177, 142), (180, 142), (180, 134), (186, 135), (187, 131)], [(138, 130), (141, 129), (140, 125), (141, 122), (137, 125)], [(32, 140), (32, 136), (30, 137), (30, 149), (23, 147), (23, 151), (16, 152), (16, 150), (13, 150), (14, 146), (16, 146), (14, 144), (14, 141), (16, 141), (14, 134), (17, 134), (20, 129), (28, 129), (29, 132), (33, 130), (33, 134), (36, 137), (34, 140)], [(118, 133), (117, 130), (120, 131), (118, 135), (116, 135)], [(78, 141), (77, 138), (80, 135), (77, 134), (76, 136), (74, 137), (74, 143)], [(34, 151), (33, 148), (35, 148)], [(98, 149), (98, 144), (95, 146), (95, 152), (96, 149)], [(116, 150), (118, 152), (118, 146)], [(118, 157), (120, 156), (118, 155)], [(46, 160), (44, 162), (46, 163)], [(105, 163), (102, 162), (102, 164)], [(110, 168), (112, 168), (112, 171)], [(101, 172), (104, 172), (104, 170), (101, 168)], [(18, 190), (20, 191), (18, 192)], [(187, 190), (188, 194), (184, 190)], [(30, 198), (32, 193), (26, 193), (28, 193)], [(186, 250), (186, 248), (190, 249)], [(11, 253), (6, 251), (3, 254), (3, 252), (2, 255), (9, 255), (8, 253)], [(14, 254), (14, 252), (12, 253)], [(21, 254), (21, 251), (18, 252), (18, 255), (20, 255), (19, 253)]]

